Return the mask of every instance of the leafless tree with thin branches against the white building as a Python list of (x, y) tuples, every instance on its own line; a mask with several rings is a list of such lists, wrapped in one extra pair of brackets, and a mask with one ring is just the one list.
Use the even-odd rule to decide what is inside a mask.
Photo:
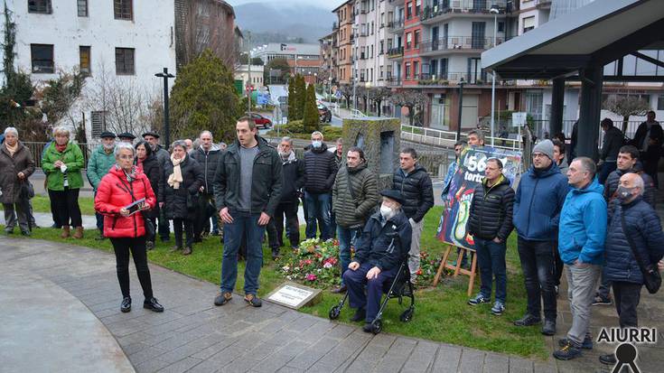
[(117, 77), (100, 64), (95, 84), (86, 92), (89, 109), (105, 112), (106, 129), (116, 134), (141, 134), (150, 129), (148, 105), (155, 101), (150, 90), (133, 77)]

